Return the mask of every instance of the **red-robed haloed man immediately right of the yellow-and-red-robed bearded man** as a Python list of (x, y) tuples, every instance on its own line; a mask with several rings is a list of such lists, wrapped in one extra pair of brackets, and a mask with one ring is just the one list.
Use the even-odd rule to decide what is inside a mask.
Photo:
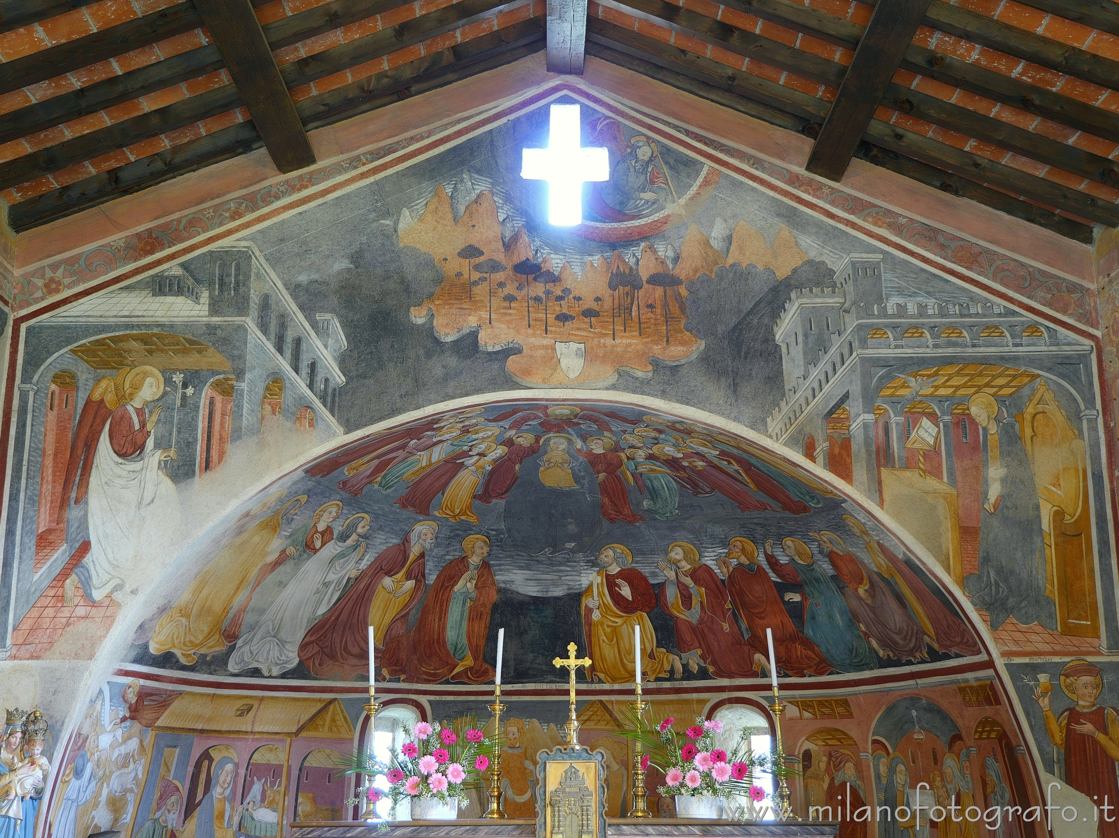
[(667, 561), (657, 566), (666, 577), (657, 599), (673, 618), (676, 648), (688, 669), (696, 672), (705, 666), (715, 678), (747, 677), (753, 656), (739, 632), (723, 583), (699, 561), (695, 546), (669, 545)]

